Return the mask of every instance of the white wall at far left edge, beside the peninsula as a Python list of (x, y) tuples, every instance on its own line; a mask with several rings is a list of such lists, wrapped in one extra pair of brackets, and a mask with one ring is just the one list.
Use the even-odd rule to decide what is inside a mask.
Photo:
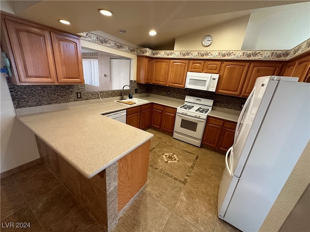
[(34, 134), (16, 119), (6, 82), (0, 75), (0, 172), (40, 158)]

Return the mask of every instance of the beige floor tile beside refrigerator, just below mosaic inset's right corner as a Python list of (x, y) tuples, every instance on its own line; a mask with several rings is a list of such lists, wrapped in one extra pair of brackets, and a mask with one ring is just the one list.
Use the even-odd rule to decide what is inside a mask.
[(219, 183), (220, 181), (217, 178), (208, 176), (204, 172), (194, 168), (188, 178), (186, 187), (199, 191), (203, 195), (217, 201)]

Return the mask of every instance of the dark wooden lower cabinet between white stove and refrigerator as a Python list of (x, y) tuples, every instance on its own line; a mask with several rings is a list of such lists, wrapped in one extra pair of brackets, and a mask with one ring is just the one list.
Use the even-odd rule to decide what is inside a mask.
[(203, 132), (202, 146), (227, 151), (233, 145), (236, 123), (208, 116)]

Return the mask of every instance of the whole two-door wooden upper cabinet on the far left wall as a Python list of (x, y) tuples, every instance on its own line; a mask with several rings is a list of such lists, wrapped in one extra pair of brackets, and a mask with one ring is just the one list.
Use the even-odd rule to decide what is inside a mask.
[(83, 84), (78, 36), (1, 14), (1, 44), (16, 85)]

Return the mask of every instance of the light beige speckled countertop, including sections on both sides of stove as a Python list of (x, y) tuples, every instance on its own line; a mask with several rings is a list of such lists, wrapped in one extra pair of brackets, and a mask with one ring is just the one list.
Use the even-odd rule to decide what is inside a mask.
[[(159, 95), (138, 98), (148, 101), (145, 103), (170, 107), (184, 104), (184, 100)], [(81, 174), (91, 178), (154, 136), (101, 113), (108, 114), (142, 104), (124, 105), (111, 101), (74, 107), (63, 107), (63, 104), (39, 106), (18, 109), (17, 118)], [(235, 115), (238, 111), (232, 114), (231, 110), (214, 108), (209, 115), (233, 121), (238, 119)], [(33, 112), (36, 113), (31, 114)]]

